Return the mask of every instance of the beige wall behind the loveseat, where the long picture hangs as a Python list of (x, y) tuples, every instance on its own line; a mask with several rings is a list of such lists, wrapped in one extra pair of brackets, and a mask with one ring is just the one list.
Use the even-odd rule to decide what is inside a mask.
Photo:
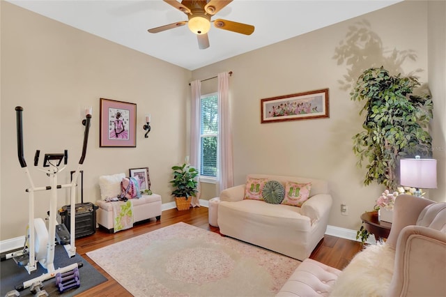
[[(365, 171), (356, 167), (351, 140), (361, 130), (363, 118), (358, 113), (362, 104), (351, 101), (351, 89), (341, 89), (339, 81), (356, 79), (362, 70), (383, 65), (394, 74), (420, 69), (420, 82), (427, 82), (427, 13), (426, 1), (404, 1), (194, 70), (194, 79), (233, 71), (230, 84), (235, 183), (244, 183), (249, 173), (325, 178), (334, 199), (329, 224), (357, 229), (360, 214), (374, 207), (384, 188), (362, 183)], [(353, 66), (345, 61), (338, 63), (334, 59), (335, 49), (341, 41), (346, 43), (349, 27), (359, 26), (357, 22), (364, 20), (371, 25), (367, 31), (376, 34), (380, 46), (350, 47), (357, 62)], [(400, 58), (403, 51), (411, 51), (416, 54), (416, 61), (406, 59), (399, 65), (390, 58), (394, 50)], [(439, 68), (442, 70), (432, 73), (433, 79), (438, 72), (445, 71), (444, 63)], [(444, 88), (444, 79), (438, 79), (438, 87)], [(260, 123), (261, 98), (323, 88), (330, 89), (330, 119)], [(433, 100), (438, 102), (436, 105), (445, 106), (445, 96), (435, 96)], [(444, 123), (444, 113), (432, 123), (437, 130), (440, 121)], [(444, 148), (444, 139), (439, 145)], [(444, 171), (445, 162), (438, 166)], [(438, 180), (438, 188), (443, 195), (431, 198), (445, 200), (444, 177)], [(347, 216), (341, 215), (342, 203), (348, 206)]]

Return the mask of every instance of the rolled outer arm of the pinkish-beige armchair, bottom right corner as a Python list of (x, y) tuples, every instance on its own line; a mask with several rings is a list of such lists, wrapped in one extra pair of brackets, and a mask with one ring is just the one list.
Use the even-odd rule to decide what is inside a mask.
[(442, 231), (404, 227), (398, 238), (387, 296), (446, 296), (445, 254), (446, 234)]

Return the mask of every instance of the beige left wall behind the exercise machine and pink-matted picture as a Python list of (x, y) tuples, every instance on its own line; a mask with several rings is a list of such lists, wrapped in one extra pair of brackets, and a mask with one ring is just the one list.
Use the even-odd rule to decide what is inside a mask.
[[(171, 166), (185, 157), (185, 101), (191, 72), (127, 47), (1, 1), (1, 238), (24, 235), (29, 187), (17, 161), (15, 111), (24, 107), (24, 154), (36, 186), (48, 184), (33, 167), (36, 149), (63, 153), (68, 182), (82, 151), (82, 108), (93, 106), (84, 162), (84, 201), (99, 197), (98, 176), (149, 167), (152, 188), (173, 201)], [(99, 98), (137, 104), (137, 147), (99, 147)], [(151, 132), (144, 138), (144, 114)], [(42, 159), (40, 159), (42, 160)], [(59, 205), (68, 203), (59, 190)], [(45, 218), (47, 193), (36, 195), (36, 217)]]

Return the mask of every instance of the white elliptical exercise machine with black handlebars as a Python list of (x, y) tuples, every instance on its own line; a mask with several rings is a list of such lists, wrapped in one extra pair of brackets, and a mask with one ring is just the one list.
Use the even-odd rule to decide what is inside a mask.
[[(65, 225), (56, 224), (57, 189), (70, 188), (70, 207), (71, 209), (75, 209), (76, 181), (86, 155), (91, 114), (86, 114), (86, 119), (82, 121), (82, 124), (85, 125), (82, 156), (79, 160), (79, 165), (77, 166), (76, 171), (72, 175), (71, 183), (63, 185), (57, 184), (56, 175), (66, 168), (68, 162), (68, 151), (65, 150), (64, 153), (45, 153), (45, 158), (43, 161), (44, 169), (38, 168), (38, 170), (47, 174), (47, 176), (49, 177), (49, 185), (45, 187), (36, 187), (31, 178), (31, 174), (29, 174), (28, 167), (26, 167), (26, 161), (23, 153), (23, 108), (17, 106), (15, 107), (15, 111), (17, 119), (17, 155), (19, 158), (20, 166), (24, 169), (24, 173), (26, 174), (31, 187), (26, 189), (26, 192), (29, 193), (29, 229), (27, 232), (28, 234), (26, 234), (26, 241), (28, 243), (28, 246), (26, 246), (25, 241), (24, 249), (20, 252), (13, 252), (12, 254), (10, 254), (10, 257), (20, 257), (20, 264), (22, 264), (26, 268), (26, 271), (28, 271), (29, 274), (31, 274), (32, 271), (36, 271), (38, 263), (40, 263), (40, 265), (47, 271), (47, 273), (35, 277), (32, 280), (23, 282), (20, 287), (15, 288), (17, 289), (17, 291), (22, 291), (23, 289), (31, 287), (36, 282), (49, 280), (52, 277), (55, 277), (58, 273), (62, 274), (68, 273), (69, 271), (77, 270), (77, 263), (65, 266), (63, 268), (54, 268), (54, 248), (56, 246), (56, 238), (58, 238), (58, 241), (60, 238), (64, 238), (63, 247), (65, 248), (68, 257), (74, 257), (76, 254), (75, 215), (72, 215), (70, 218), (70, 226), (72, 230), (71, 234), (68, 234)], [(37, 150), (36, 155), (34, 156), (34, 166), (38, 166), (39, 155), (40, 151)], [(63, 167), (59, 169), (61, 162), (63, 162)], [(45, 222), (41, 218), (34, 218), (34, 192), (47, 190), (50, 192), (48, 229), (45, 226)]]

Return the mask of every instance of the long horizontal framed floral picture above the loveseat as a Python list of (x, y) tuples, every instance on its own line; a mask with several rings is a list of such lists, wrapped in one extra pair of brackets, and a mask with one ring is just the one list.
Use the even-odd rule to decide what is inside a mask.
[(261, 99), (261, 123), (328, 117), (328, 89)]

